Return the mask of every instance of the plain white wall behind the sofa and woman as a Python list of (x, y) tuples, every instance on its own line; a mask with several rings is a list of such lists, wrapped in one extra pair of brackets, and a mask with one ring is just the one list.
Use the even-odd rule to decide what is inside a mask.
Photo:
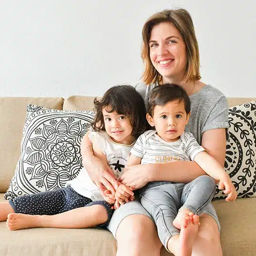
[(172, 7), (192, 15), (202, 81), (256, 97), (255, 0), (1, 0), (0, 96), (100, 96), (135, 84), (143, 23)]

